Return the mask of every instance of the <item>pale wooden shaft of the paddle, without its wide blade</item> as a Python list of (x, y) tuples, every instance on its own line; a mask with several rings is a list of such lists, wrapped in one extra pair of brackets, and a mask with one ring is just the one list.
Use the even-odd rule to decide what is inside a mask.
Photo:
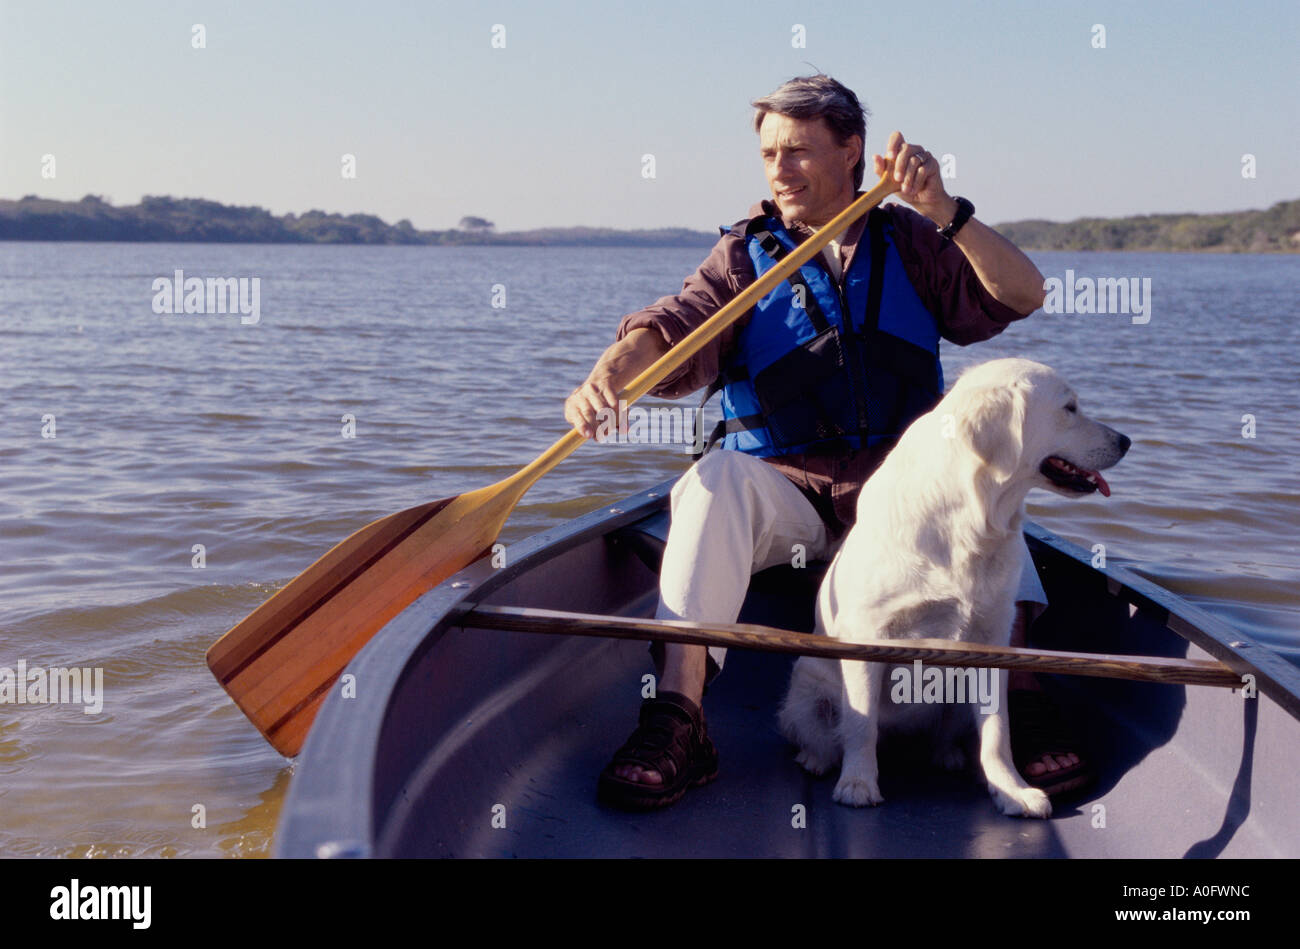
[[(668, 376), (685, 365), (692, 356), (711, 343), (723, 330), (753, 309), (754, 304), (772, 292), (772, 290), (775, 290), (784, 280), (789, 278), (792, 273), (803, 266), (803, 264), (811, 260), (816, 254), (820, 254), (822, 250), (831, 243), (831, 238), (845, 230), (850, 224), (866, 214), (897, 190), (898, 183), (893, 179), (893, 174), (890, 172), (885, 172), (874, 188), (861, 195), (853, 202), (853, 204), (832, 217), (826, 226), (790, 251), (790, 254), (780, 260), (776, 266), (771, 268), (762, 277), (745, 287), (745, 290), (742, 290), (733, 300), (699, 324), (699, 326), (697, 326), (690, 335), (646, 367), (646, 369), (644, 369), (636, 378), (628, 382), (621, 391), (619, 391), (619, 399), (627, 404), (632, 404), (659, 385), (663, 380), (668, 378)], [(517, 480), (523, 484), (524, 490), (526, 490), (528, 486), (534, 484), (540, 477), (542, 477), (542, 474), (546, 474), (555, 465), (573, 454), (573, 451), (576, 451), (577, 447), (585, 441), (586, 438), (578, 433), (577, 429), (568, 432), (550, 448), (542, 452), (532, 464), (520, 469), (514, 477), (510, 478), (510, 481)]]

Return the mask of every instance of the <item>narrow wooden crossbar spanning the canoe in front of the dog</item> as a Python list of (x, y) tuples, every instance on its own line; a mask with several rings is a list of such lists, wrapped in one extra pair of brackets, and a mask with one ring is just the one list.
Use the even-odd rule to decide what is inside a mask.
[(1131, 679), (1170, 685), (1242, 688), (1242, 676), (1227, 666), (1204, 659), (1166, 659), (1144, 655), (1063, 653), (1017, 646), (985, 646), (953, 640), (875, 640), (845, 642), (827, 636), (793, 633), (754, 624), (699, 624), (680, 620), (645, 620), (627, 616), (478, 606), (460, 619), (462, 627), (517, 633), (604, 636), (619, 640), (660, 640), (697, 646), (757, 649), (824, 659), (914, 662), (930, 666), (1030, 670), (1102, 679)]

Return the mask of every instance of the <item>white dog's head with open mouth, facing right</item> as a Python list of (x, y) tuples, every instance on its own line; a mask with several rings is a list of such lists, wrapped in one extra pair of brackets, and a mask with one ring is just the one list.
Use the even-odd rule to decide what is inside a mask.
[(971, 367), (944, 398), (962, 437), (997, 481), (1046, 488), (1067, 498), (1100, 490), (1131, 445), (1083, 415), (1079, 398), (1050, 367), (994, 359)]

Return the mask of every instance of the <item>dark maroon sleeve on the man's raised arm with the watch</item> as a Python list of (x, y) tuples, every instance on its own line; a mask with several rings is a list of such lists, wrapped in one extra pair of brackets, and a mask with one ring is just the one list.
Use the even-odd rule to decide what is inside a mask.
[(944, 246), (933, 224), (911, 208), (889, 204), (898, 256), (922, 303), (939, 321), (944, 339), (967, 346), (996, 337), (1008, 324), (1023, 320), (994, 298), (956, 243)]

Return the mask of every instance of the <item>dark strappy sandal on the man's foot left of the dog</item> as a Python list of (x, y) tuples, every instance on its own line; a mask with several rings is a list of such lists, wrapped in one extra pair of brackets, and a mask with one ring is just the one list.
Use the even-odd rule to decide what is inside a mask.
[[(623, 764), (658, 771), (663, 783), (619, 777), (614, 770)], [(601, 772), (597, 793), (616, 807), (654, 810), (676, 803), (686, 790), (715, 777), (718, 749), (708, 738), (699, 706), (677, 692), (660, 692), (641, 703), (640, 724)]]

